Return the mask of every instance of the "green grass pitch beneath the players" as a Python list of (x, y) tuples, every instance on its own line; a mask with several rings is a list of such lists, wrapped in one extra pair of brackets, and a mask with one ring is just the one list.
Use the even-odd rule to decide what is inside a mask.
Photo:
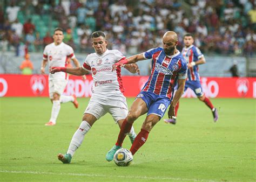
[[(181, 99), (176, 125), (163, 120), (128, 167), (105, 160), (119, 128), (107, 114), (85, 136), (71, 164), (62, 164), (89, 99), (62, 104), (57, 125), (46, 127), (48, 98), (0, 98), (0, 181), (255, 181), (255, 99), (212, 99), (220, 119), (197, 99)], [(127, 99), (129, 106), (133, 98)], [(167, 115), (165, 115), (165, 118)], [(135, 123), (138, 133), (145, 119)], [(127, 137), (123, 147), (130, 149)]]

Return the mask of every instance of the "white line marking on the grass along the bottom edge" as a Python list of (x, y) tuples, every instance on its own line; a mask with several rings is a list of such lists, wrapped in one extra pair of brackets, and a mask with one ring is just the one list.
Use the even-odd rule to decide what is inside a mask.
[(55, 172), (38, 172), (38, 171), (8, 171), (0, 170), (2, 173), (23, 173), (23, 174), (47, 174), (47, 175), (65, 175), (65, 176), (86, 176), (86, 177), (103, 177), (103, 178), (136, 178), (136, 179), (152, 179), (152, 180), (177, 180), (177, 181), (214, 181), (205, 179), (186, 179), (186, 178), (172, 178), (172, 177), (147, 177), (147, 176), (113, 176), (104, 174), (86, 174), (86, 173), (55, 173)]

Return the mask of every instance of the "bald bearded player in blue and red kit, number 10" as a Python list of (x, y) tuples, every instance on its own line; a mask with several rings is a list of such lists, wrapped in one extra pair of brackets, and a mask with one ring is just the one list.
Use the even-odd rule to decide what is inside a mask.
[[(163, 48), (152, 48), (147, 52), (133, 55), (113, 65), (112, 71), (125, 64), (152, 59), (152, 70), (149, 80), (145, 83), (142, 92), (137, 95), (136, 100), (132, 103), (130, 111), (120, 129), (116, 145), (107, 152), (107, 161), (111, 161), (114, 153), (122, 147), (127, 132), (131, 130), (133, 122), (139, 116), (147, 113), (142, 128), (131, 146), (130, 151), (132, 155), (146, 142), (149, 132), (164, 116), (170, 104), (168, 116), (174, 116), (174, 108), (183, 94), (187, 78), (187, 63), (176, 49), (177, 44), (177, 34), (173, 31), (168, 31), (163, 36)], [(177, 84), (177, 92), (173, 95), (174, 87)]]

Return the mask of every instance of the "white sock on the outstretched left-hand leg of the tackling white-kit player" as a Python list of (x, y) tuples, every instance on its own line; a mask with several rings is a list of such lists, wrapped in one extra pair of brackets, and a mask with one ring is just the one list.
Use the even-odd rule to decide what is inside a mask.
[(91, 126), (87, 121), (82, 121), (79, 128), (73, 135), (71, 142), (69, 144), (68, 152), (71, 156), (74, 155), (75, 151), (79, 148), (84, 140), (85, 134), (91, 129)]

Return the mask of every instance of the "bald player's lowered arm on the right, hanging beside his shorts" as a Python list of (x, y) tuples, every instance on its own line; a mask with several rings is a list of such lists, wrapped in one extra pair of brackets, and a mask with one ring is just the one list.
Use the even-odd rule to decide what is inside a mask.
[(178, 88), (177, 88), (176, 94), (174, 95), (174, 98), (172, 100), (172, 103), (171, 103), (169, 111), (168, 111), (169, 118), (176, 117), (175, 116), (175, 106), (179, 102), (179, 99), (184, 92), (186, 79), (178, 79), (177, 82), (178, 82)]

